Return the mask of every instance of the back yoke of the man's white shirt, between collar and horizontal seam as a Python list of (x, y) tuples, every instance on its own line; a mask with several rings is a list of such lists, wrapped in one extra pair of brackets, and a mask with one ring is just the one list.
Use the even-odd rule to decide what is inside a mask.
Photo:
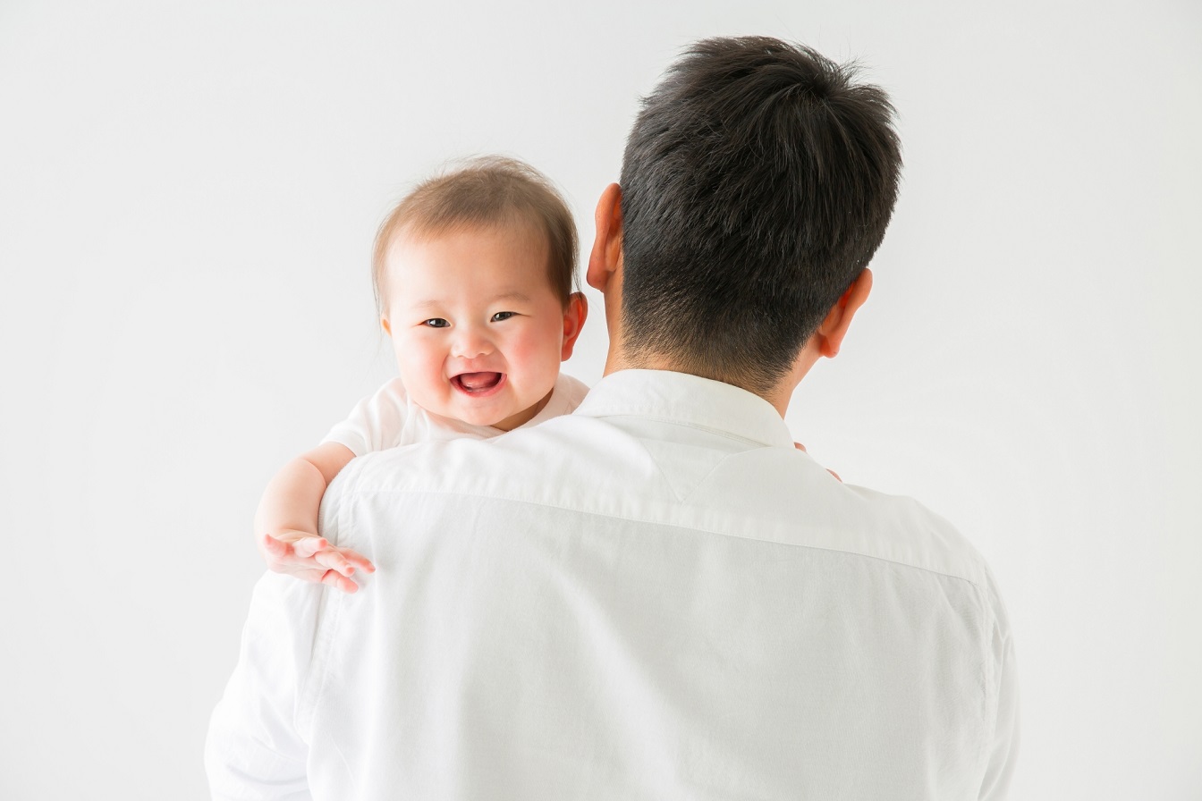
[(327, 496), (490, 497), (629, 518), (939, 573), (983, 586), (987, 568), (918, 501), (833, 478), (783, 448), (722, 450), (564, 416), (486, 441), (426, 442), (353, 460)]

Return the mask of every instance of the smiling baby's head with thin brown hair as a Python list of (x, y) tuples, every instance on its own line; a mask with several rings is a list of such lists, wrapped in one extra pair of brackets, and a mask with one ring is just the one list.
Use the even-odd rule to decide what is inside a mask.
[(571, 211), (536, 169), (474, 159), (410, 192), (376, 234), (373, 281), (405, 389), (508, 431), (534, 418), (587, 307)]

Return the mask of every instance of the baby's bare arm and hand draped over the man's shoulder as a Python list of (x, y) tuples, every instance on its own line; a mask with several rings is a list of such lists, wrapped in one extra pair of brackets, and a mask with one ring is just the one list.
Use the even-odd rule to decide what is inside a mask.
[(268, 482), (255, 513), (255, 539), (268, 568), (343, 592), (358, 588), (350, 579), (355, 570), (375, 570), (363, 555), (317, 536), (321, 496), (353, 458), (346, 446), (323, 442), (286, 464)]

